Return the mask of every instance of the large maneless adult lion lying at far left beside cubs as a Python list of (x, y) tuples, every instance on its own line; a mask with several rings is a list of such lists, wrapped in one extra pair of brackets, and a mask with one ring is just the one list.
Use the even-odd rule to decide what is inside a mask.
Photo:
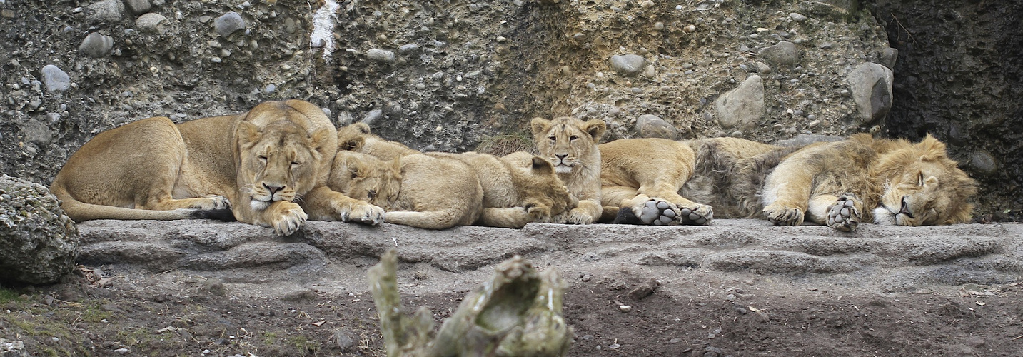
[(230, 207), (234, 219), (281, 235), (307, 213), (379, 223), (382, 209), (325, 187), (336, 140), (322, 110), (294, 99), (177, 125), (143, 119), (82, 145), (50, 191), (77, 222), (208, 218)]

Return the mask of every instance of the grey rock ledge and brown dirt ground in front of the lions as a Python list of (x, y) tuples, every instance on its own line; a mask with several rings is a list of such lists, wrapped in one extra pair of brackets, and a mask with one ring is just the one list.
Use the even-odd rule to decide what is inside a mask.
[[(264, 238), (263, 228), (236, 223), (99, 221), (80, 229), (85, 264), (74, 276), (0, 291), (0, 336), (25, 342), (35, 355), (382, 356), (365, 270), (376, 263), (371, 252), (395, 244), (407, 312), (426, 306), (438, 325), (508, 252), (541, 270), (557, 269), (569, 282), (570, 356), (1018, 356), (1023, 350), (1018, 224), (863, 225), (855, 236), (753, 220), (440, 232), (311, 222), (290, 238)], [(228, 233), (196, 233), (213, 230)], [(151, 232), (133, 235), (140, 231)], [(229, 243), (233, 235), (244, 241)], [(195, 250), (218, 254), (225, 265), (185, 269), (159, 259), (151, 247), (131, 248), (182, 248), (181, 236), (206, 236)], [(849, 248), (859, 242), (875, 250)], [(231, 258), (232, 251), (264, 243), (311, 244), (328, 262), (288, 258), (247, 266)], [(678, 247), (691, 247), (698, 258), (691, 262)], [(489, 258), (466, 260), (479, 255), (476, 249)], [(96, 263), (99, 251), (120, 263)], [(444, 256), (453, 251), (466, 255)], [(799, 263), (780, 252), (820, 260)], [(846, 256), (860, 263), (843, 268)], [(438, 257), (460, 263), (430, 260)]]

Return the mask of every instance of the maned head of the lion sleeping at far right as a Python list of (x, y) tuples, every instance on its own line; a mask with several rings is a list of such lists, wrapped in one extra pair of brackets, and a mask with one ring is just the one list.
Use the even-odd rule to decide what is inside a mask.
[(920, 143), (898, 140), (874, 168), (883, 184), (874, 210), (877, 224), (903, 226), (965, 223), (973, 205), (967, 203), (977, 183), (948, 159), (945, 144), (931, 135)]

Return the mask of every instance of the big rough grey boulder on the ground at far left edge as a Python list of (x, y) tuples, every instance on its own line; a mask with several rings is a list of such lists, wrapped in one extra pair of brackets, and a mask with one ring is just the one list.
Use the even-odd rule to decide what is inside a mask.
[(0, 176), (0, 281), (45, 284), (75, 268), (78, 229), (42, 185)]

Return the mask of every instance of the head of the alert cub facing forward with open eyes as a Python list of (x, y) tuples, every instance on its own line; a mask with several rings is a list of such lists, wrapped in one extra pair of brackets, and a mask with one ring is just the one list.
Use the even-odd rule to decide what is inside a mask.
[(589, 157), (599, 155), (596, 143), (607, 130), (604, 121), (583, 122), (568, 117), (552, 121), (534, 118), (531, 127), (540, 155), (550, 162), (559, 174), (575, 172)]

